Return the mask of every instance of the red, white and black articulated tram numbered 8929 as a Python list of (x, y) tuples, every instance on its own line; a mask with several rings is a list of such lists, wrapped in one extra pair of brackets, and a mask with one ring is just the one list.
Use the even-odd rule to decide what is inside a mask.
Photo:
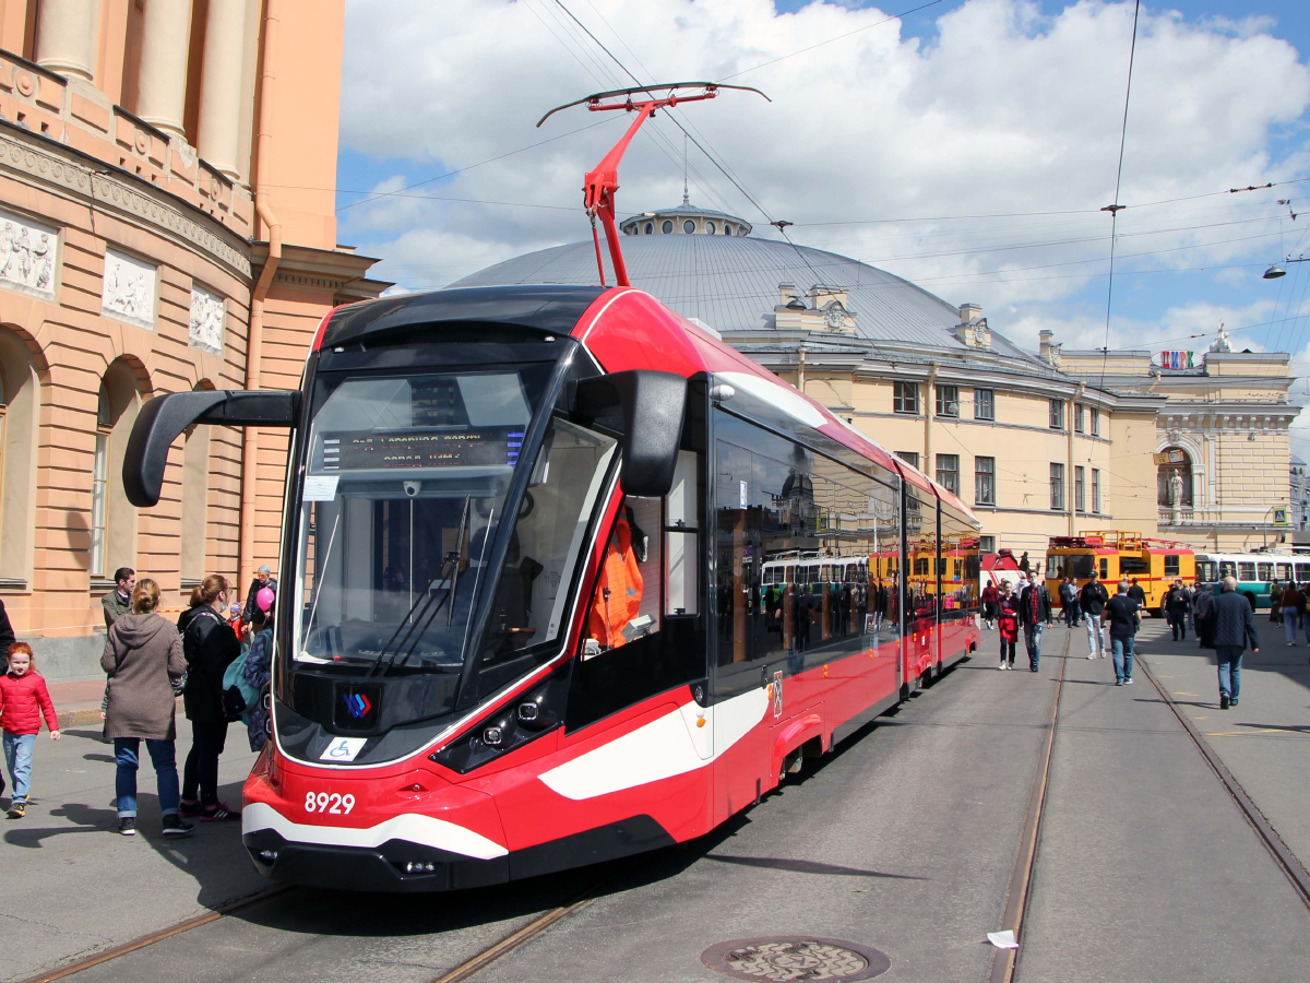
[(194, 422), (292, 431), (242, 810), (278, 881), (461, 889), (693, 839), (977, 645), (969, 509), (627, 286), (341, 308), (299, 392), (147, 404), (134, 502)]

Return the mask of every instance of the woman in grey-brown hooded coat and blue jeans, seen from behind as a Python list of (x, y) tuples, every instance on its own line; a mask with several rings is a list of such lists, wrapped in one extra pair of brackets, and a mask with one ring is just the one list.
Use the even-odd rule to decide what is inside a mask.
[(100, 658), (110, 682), (105, 739), (114, 742), (118, 831), (124, 836), (136, 834), (136, 769), (141, 741), (155, 765), (164, 835), (185, 836), (194, 828), (177, 814), (173, 687), (186, 671), (186, 662), (182, 637), (156, 613), (159, 603), (159, 585), (151, 579), (138, 581), (132, 590), (132, 613), (123, 615), (110, 626), (105, 654)]

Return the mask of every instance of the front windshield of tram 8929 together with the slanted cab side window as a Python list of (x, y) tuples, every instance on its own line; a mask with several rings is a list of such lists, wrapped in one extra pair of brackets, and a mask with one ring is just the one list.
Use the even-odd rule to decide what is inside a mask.
[[(524, 446), (549, 363), (320, 374), (305, 448), (291, 658), (381, 675), (457, 674), (555, 640), (614, 440), (562, 418)], [(511, 476), (531, 468), (490, 569)], [(479, 602), (491, 596), (481, 638)], [(438, 704), (448, 706), (453, 682)], [(444, 709), (438, 705), (434, 710)]]

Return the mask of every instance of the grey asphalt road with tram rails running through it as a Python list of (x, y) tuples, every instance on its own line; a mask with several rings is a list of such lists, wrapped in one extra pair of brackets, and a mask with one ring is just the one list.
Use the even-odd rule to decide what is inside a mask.
[[(882, 979), (984, 980), (1064, 641), (1065, 629), (1048, 629), (1031, 674), (997, 672), (986, 640), (973, 661), (697, 843), (461, 895), (292, 890), (77, 979), (431, 980), (599, 882), (591, 904), (477, 979), (709, 983), (726, 979), (701, 965), (709, 946), (785, 935), (882, 950)], [(1293, 851), (1310, 856), (1298, 781), (1310, 650), (1250, 657), (1234, 716), (1217, 710), (1208, 654), (1169, 642), (1158, 624), (1141, 644), (1175, 699), (1197, 704), (1188, 710), (1203, 730), (1250, 731), (1209, 739)], [(1085, 655), (1078, 630), (1017, 979), (1310, 979), (1310, 911), (1233, 800), (1142, 674), (1116, 688), (1110, 661)], [(234, 827), (176, 844), (148, 824), (135, 841), (114, 835), (106, 748), (69, 737), (42, 738), (42, 798), (0, 827), (5, 882), (25, 886), (0, 898), (8, 979), (265, 886)], [(233, 731), (229, 748), (238, 746)], [(248, 765), (249, 754), (229, 754), (224, 779)]]

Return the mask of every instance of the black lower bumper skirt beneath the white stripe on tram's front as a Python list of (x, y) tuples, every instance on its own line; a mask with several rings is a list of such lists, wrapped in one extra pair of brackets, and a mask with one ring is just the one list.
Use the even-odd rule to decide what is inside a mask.
[(477, 860), (409, 840), (377, 848), (291, 843), (272, 830), (241, 838), (255, 868), (274, 881), (346, 891), (452, 891), (504, 883), (673, 845), (648, 815), (563, 836), (504, 857)]

